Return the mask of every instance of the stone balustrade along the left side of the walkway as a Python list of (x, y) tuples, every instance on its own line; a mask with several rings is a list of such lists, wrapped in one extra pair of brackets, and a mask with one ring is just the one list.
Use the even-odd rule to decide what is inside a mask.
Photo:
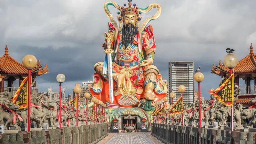
[(0, 135), (1, 144), (95, 144), (108, 135), (108, 124)]

